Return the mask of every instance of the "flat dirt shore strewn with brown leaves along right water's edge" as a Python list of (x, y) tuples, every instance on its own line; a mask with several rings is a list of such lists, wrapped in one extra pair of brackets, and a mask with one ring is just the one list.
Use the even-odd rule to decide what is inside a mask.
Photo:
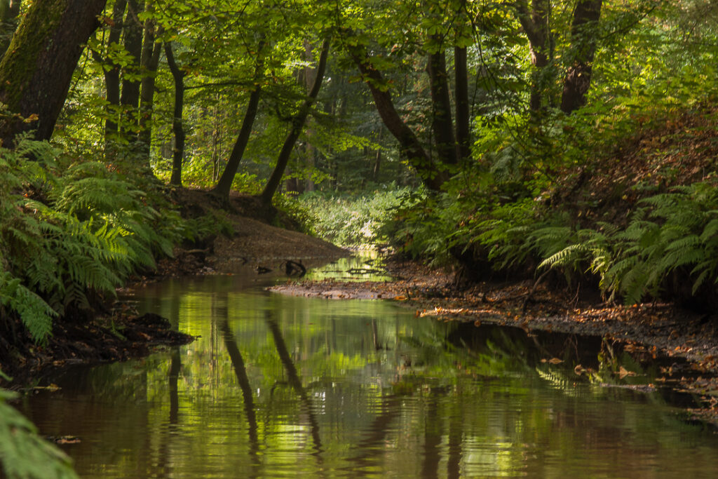
[(387, 269), (395, 281), (297, 281), (271, 290), (327, 299), (390, 299), (411, 308), (417, 317), (473, 322), (476, 327), (520, 327), (527, 334), (546, 330), (594, 335), (654, 358), (686, 358), (687, 370), (662, 368), (662, 384), (656, 386), (694, 394), (701, 406), (688, 410), (691, 417), (718, 426), (718, 315), (700, 315), (668, 303), (605, 304), (592, 294), (531, 281), (481, 283), (457, 291), (452, 271), (400, 260), (388, 261)]

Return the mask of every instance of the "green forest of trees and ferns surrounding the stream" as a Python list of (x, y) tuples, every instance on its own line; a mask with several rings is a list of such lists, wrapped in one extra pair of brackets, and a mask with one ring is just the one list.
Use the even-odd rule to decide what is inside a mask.
[[(0, 20), (6, 380), (227, 234), (237, 198), (457, 289), (718, 306), (717, 1), (2, 0)], [(0, 417), (7, 473), (13, 440), (60, 457)]]

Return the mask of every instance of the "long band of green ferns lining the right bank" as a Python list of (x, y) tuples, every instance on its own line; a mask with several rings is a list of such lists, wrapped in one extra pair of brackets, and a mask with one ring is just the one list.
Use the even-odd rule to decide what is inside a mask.
[[(447, 195), (413, 202), (393, 235), (412, 256), (446, 259), (454, 246), (479, 247), (494, 269), (554, 268), (567, 280), (593, 274), (609, 299), (659, 297), (671, 276), (691, 294), (718, 283), (718, 187), (696, 183), (641, 200), (627, 226), (574, 226), (569, 213), (546, 213), (533, 198), (473, 208)], [(397, 227), (398, 225), (398, 227)], [(441, 256), (442, 253), (444, 256)], [(711, 285), (712, 284), (712, 285)]]

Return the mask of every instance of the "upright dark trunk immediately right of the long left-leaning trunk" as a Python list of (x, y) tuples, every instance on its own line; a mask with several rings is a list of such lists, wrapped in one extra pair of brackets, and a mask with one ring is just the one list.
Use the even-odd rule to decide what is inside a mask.
[(432, 131), (434, 144), (437, 148), (439, 162), (443, 164), (456, 164), (456, 141), (451, 113), (451, 98), (449, 97), (449, 75), (447, 74), (446, 53), (440, 45), (440, 40), (434, 38), (439, 45), (437, 52), (429, 53), (429, 62), (426, 72), (429, 73), (429, 83), (432, 92)]

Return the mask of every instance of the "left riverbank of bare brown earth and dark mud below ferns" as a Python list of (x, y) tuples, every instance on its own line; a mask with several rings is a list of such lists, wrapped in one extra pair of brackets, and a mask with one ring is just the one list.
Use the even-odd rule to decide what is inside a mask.
[[(205, 190), (174, 191), (174, 202), (185, 218), (216, 218), (225, 223), (230, 234), (197, 238), (174, 247), (170, 258), (157, 261), (157, 269), (131, 276), (126, 294), (149, 282), (169, 277), (197, 274), (231, 274), (238, 268), (251, 267), (257, 274), (286, 270), (286, 261), (306, 268), (327, 263), (349, 252), (319, 238), (289, 228), (291, 218), (274, 208), (262, 207), (256, 198), (234, 193), (227, 213), (216, 217), (220, 206)], [(0, 337), (0, 387), (19, 389), (52, 375), (58, 368), (127, 361), (149, 355), (158, 348), (190, 343), (194, 338), (173, 330), (169, 321), (157, 315), (137, 315), (128, 304), (98, 300), (95, 314), (89, 312), (73, 320), (57, 321), (46, 343), (37, 345), (27, 330), (16, 321), (17, 338), (10, 342)]]

